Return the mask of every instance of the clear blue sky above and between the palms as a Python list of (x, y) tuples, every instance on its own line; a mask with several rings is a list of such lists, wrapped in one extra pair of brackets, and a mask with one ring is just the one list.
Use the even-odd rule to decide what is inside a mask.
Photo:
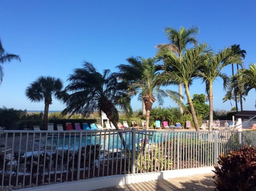
[[(155, 45), (169, 43), (163, 29), (181, 26), (199, 28), (197, 39), (215, 52), (239, 44), (247, 52), (245, 68), (256, 62), (256, 1), (170, 1), (170, 0), (2, 0), (0, 38), (7, 52), (18, 54), (21, 62), (6, 62), (0, 85), (0, 107), (43, 110), (44, 102), (31, 103), (25, 89), (39, 76), (67, 78), (83, 61), (92, 62), (98, 71), (125, 64), (129, 56), (153, 57)], [(231, 65), (223, 70), (231, 74)], [(214, 110), (230, 110), (222, 103), (222, 81), (213, 87)], [(178, 86), (169, 87), (177, 90)], [(196, 80), (190, 93), (205, 94)], [(244, 110), (255, 110), (255, 90), (244, 102)], [(137, 98), (133, 110), (141, 108)], [(153, 107), (158, 106), (154, 103)], [(165, 107), (177, 106), (165, 99)], [(235, 106), (235, 103), (233, 103)], [(53, 100), (50, 110), (65, 105)]]

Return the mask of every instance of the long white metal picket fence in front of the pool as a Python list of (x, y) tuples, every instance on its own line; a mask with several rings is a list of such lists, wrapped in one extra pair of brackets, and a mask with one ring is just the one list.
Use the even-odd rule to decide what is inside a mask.
[(256, 146), (256, 132), (17, 131), (0, 137), (1, 190), (110, 175), (213, 166), (220, 153)]

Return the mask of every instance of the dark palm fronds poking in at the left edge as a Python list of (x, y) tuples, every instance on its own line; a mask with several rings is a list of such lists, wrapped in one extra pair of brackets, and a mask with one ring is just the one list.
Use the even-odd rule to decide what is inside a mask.
[(11, 62), (11, 60), (18, 60), (20, 61), (20, 57), (15, 54), (8, 54), (5, 52), (5, 49), (3, 48), (1, 39), (0, 39), (0, 84), (3, 81), (4, 71), (2, 64), (6, 61)]

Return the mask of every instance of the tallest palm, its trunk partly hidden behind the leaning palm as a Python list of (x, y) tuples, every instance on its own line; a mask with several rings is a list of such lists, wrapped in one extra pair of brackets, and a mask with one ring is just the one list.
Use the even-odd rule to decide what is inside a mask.
[[(198, 34), (198, 28), (191, 27), (189, 29), (185, 29), (181, 27), (180, 30), (176, 30), (174, 28), (167, 27), (164, 29), (165, 35), (170, 40), (170, 44), (162, 44), (157, 45), (158, 48), (168, 48), (170, 51), (174, 52), (179, 57), (179, 63), (182, 63), (183, 54), (186, 51), (186, 47), (188, 44), (197, 44), (197, 40), (194, 35)], [(182, 81), (179, 82), (179, 94), (180, 94), (180, 103), (183, 102), (183, 92), (182, 92)], [(179, 104), (180, 112), (183, 113), (183, 107)]]

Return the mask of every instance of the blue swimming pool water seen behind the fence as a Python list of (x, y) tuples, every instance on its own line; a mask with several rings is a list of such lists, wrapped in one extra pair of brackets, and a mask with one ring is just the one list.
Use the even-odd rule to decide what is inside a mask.
[[(128, 148), (131, 148), (131, 132), (123, 132), (123, 139), (126, 142), (126, 145)], [(147, 142), (149, 143), (159, 143), (163, 142), (164, 140), (170, 140), (174, 136), (177, 135), (177, 132), (160, 132), (160, 131), (154, 131), (154, 132), (148, 132), (147, 134)], [(187, 136), (193, 136), (193, 134), (179, 134), (182, 138)], [(81, 138), (81, 142), (80, 142)], [(145, 138), (145, 131), (139, 131), (135, 134), (135, 143), (136, 145), (140, 145), (141, 140)], [(45, 143), (45, 139), (42, 139), (41, 142), (42, 145), (54, 145), (59, 150), (78, 150), (79, 147), (84, 147), (86, 145), (101, 145), (102, 149), (122, 149), (122, 139), (119, 137), (119, 135), (115, 133), (106, 134), (103, 133), (101, 135), (96, 134), (86, 134), (82, 135), (82, 137), (77, 135), (71, 135), (70, 136), (53, 136), (53, 137), (47, 137), (47, 143)]]

